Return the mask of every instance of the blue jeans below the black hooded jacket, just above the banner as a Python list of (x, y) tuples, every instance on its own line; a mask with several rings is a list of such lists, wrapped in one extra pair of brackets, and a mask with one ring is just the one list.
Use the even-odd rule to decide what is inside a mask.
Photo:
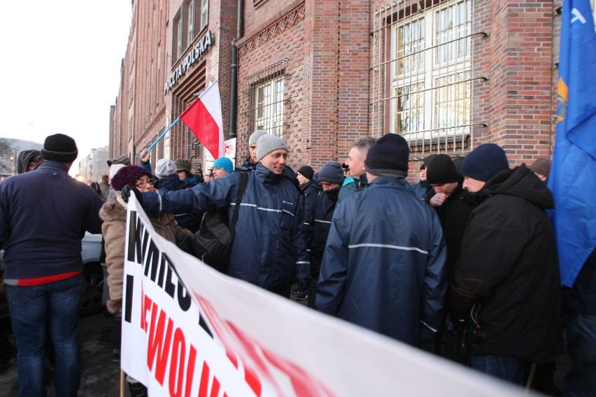
[(487, 375), (498, 377), (521, 386), (528, 373), (527, 363), (512, 356), (494, 356), (491, 354), (472, 354), (471, 367)]

